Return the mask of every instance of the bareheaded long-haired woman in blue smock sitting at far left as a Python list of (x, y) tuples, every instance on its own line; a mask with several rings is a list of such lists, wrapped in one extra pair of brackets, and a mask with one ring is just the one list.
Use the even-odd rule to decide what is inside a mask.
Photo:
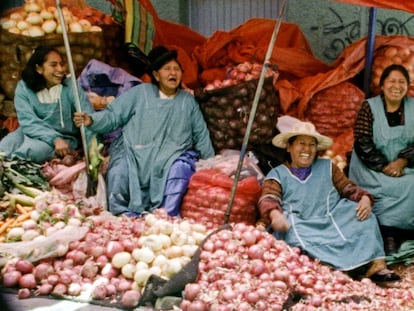
[[(92, 112), (86, 94), (79, 96), (81, 108)], [(42, 163), (74, 154), (82, 146), (79, 128), (72, 120), (76, 111), (72, 83), (55, 48), (34, 50), (16, 86), (14, 107), (19, 128), (0, 141), (0, 152), (6, 157)]]

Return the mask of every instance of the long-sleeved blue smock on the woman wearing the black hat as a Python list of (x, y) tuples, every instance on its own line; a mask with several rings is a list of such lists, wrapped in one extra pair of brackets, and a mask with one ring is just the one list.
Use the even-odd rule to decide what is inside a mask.
[(117, 215), (141, 214), (159, 207), (172, 163), (194, 149), (203, 159), (214, 156), (210, 133), (194, 97), (179, 90), (162, 99), (156, 85), (143, 83), (92, 114), (94, 132), (122, 127), (110, 147), (108, 203)]

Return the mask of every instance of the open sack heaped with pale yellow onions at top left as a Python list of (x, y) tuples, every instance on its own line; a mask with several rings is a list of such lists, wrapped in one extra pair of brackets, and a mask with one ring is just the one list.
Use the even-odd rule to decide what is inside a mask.
[[(63, 6), (62, 12), (75, 71), (79, 74), (92, 58), (103, 59), (104, 39), (100, 26), (79, 16), (79, 10), (72, 12), (71, 8)], [(55, 46), (65, 55), (62, 28), (56, 7), (34, 0), (27, 0), (22, 7), (6, 12), (0, 25), (0, 87), (13, 99), (21, 71), (36, 47)]]

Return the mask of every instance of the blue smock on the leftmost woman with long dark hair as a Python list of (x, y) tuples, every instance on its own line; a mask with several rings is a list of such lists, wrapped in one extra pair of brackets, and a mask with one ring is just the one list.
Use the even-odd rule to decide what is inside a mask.
[[(93, 112), (86, 94), (79, 87), (82, 111)], [(72, 150), (82, 146), (80, 130), (73, 122), (76, 102), (72, 81), (66, 78), (62, 84), (60, 98), (56, 102), (40, 102), (35, 92), (23, 80), (17, 83), (14, 107), (19, 127), (0, 141), (0, 151), (6, 157), (18, 157), (42, 163), (55, 156), (54, 141), (63, 138)], [(87, 140), (91, 137), (85, 131)]]

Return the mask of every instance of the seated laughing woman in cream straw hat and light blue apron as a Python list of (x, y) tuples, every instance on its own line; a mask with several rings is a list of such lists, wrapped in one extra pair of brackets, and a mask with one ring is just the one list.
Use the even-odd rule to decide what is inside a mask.
[(332, 140), (312, 123), (278, 120), (273, 144), (287, 160), (266, 176), (259, 212), (277, 238), (342, 271), (364, 271), (376, 282), (400, 277), (387, 269), (381, 233), (371, 214), (372, 196), (317, 152)]

